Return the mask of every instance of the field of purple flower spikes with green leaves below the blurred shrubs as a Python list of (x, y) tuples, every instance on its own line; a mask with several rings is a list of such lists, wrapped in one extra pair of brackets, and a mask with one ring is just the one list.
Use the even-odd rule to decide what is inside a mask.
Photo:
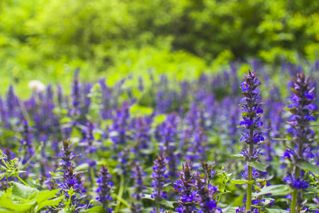
[(319, 63), (253, 67), (10, 86), (0, 212), (319, 212)]

